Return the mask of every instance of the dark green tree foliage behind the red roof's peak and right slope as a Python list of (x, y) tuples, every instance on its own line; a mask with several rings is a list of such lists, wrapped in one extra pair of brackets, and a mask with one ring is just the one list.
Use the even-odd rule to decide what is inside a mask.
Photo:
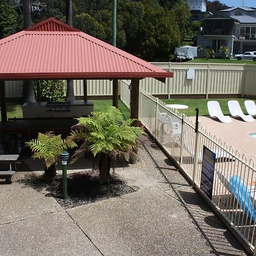
[[(40, 3), (33, 24), (49, 16), (65, 22), (66, 0), (31, 2)], [(112, 2), (73, 0), (73, 26), (111, 44)], [(117, 47), (144, 60), (169, 61), (189, 32), (189, 16), (187, 0), (118, 0)]]

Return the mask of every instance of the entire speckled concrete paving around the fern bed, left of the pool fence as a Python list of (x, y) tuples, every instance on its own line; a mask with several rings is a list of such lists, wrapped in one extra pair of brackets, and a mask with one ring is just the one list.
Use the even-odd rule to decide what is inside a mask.
[[(135, 192), (64, 210), (27, 172), (0, 184), (0, 255), (246, 255), (156, 144), (116, 172)], [(32, 178), (32, 177), (31, 177)]]

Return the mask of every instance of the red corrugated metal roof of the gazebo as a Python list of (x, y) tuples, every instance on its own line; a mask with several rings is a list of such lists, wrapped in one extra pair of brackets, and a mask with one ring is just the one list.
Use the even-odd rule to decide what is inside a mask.
[(54, 18), (0, 40), (0, 56), (0, 80), (172, 77)]

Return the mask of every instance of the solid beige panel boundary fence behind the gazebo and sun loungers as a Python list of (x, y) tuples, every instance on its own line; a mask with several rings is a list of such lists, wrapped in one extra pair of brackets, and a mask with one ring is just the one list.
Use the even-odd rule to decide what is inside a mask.
[[(156, 79), (143, 79), (141, 88), (150, 94), (171, 95), (246, 94), (256, 95), (256, 67), (245, 64), (153, 63), (174, 72), (166, 84)], [(187, 79), (187, 69), (195, 69), (195, 79)], [(75, 80), (75, 95), (83, 96), (83, 81)], [(88, 96), (112, 95), (112, 81), (88, 80)], [(22, 97), (22, 82), (7, 81), (6, 97)]]

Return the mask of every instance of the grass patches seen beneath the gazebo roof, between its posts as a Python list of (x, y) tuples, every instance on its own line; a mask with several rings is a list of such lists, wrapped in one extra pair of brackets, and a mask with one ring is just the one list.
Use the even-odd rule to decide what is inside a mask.
[[(112, 106), (112, 100), (94, 100), (94, 110), (95, 111), (104, 111), (108, 106)], [(123, 113), (125, 119), (130, 118), (130, 112), (121, 101), (118, 102), (118, 107)], [(22, 101), (18, 102), (7, 102), (7, 118), (22, 118)], [(1, 115), (0, 115), (1, 121)]]

